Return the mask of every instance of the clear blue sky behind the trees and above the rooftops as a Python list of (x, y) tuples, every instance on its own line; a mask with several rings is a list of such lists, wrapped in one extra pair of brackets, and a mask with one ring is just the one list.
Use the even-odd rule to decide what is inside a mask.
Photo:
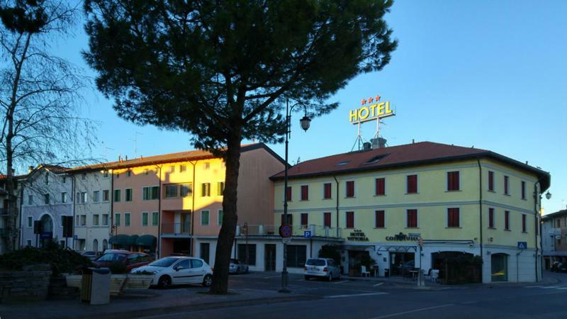
[[(294, 115), (290, 162), (354, 145), (348, 111), (379, 94), (397, 116), (387, 118), (388, 145), (429, 140), (492, 150), (551, 172), (546, 213), (567, 205), (567, 1), (396, 1), (386, 16), (400, 41), (390, 65), (337, 92), (341, 106), (315, 118), (304, 133)], [(57, 47), (88, 69), (79, 55), (86, 35)], [(94, 156), (114, 160), (191, 150), (189, 135), (123, 121), (95, 89), (86, 116), (101, 121)], [(375, 125), (363, 126), (363, 136)], [(139, 133), (139, 134), (137, 134)], [(269, 145), (283, 157), (283, 145)]]

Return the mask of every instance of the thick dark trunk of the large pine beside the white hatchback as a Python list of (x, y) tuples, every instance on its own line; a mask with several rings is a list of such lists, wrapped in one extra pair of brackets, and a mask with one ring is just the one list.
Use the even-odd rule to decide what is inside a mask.
[(237, 186), (240, 168), (240, 133), (232, 136), (227, 143), (225, 192), (223, 194), (223, 225), (218, 233), (215, 252), (215, 270), (210, 293), (223, 294), (228, 291), (228, 268), (230, 250), (235, 240), (237, 216)]

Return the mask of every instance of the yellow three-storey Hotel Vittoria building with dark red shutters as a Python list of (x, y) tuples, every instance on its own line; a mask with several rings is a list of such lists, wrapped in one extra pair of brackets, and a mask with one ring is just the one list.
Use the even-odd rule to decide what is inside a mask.
[[(417, 142), (313, 159), (288, 174), (288, 223), (338, 229), (344, 274), (359, 274), (364, 255), (379, 276), (393, 276), (430, 274), (470, 254), (482, 258), (484, 283), (541, 278), (537, 212), (551, 180), (541, 169), (488, 150)], [(279, 223), (283, 172), (271, 179)], [(309, 244), (294, 237), (292, 250), (301, 245)], [(295, 266), (303, 271), (301, 261)]]

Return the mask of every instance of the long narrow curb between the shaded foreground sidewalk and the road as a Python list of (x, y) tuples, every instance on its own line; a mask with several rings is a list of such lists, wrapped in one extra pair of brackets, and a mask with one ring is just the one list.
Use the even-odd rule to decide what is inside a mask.
[(96, 315), (88, 315), (82, 317), (81, 316), (77, 317), (77, 315), (73, 315), (69, 317), (64, 316), (59, 318), (100, 319), (101, 316), (105, 319), (137, 318), (137, 317), (147, 317), (152, 315), (167, 315), (170, 313), (181, 312), (182, 310), (189, 313), (191, 311), (206, 310), (211, 308), (225, 308), (231, 306), (257, 306), (262, 304), (283, 303), (288, 301), (311, 301), (311, 300), (318, 300), (321, 298), (322, 297), (320, 296), (310, 296), (310, 295), (296, 295), (296, 296), (285, 296), (285, 297), (275, 297), (275, 298), (249, 298), (249, 299), (240, 299), (235, 301), (200, 303), (198, 305), (178, 305), (178, 306), (169, 306), (162, 308), (118, 311), (115, 313), (98, 313)]

